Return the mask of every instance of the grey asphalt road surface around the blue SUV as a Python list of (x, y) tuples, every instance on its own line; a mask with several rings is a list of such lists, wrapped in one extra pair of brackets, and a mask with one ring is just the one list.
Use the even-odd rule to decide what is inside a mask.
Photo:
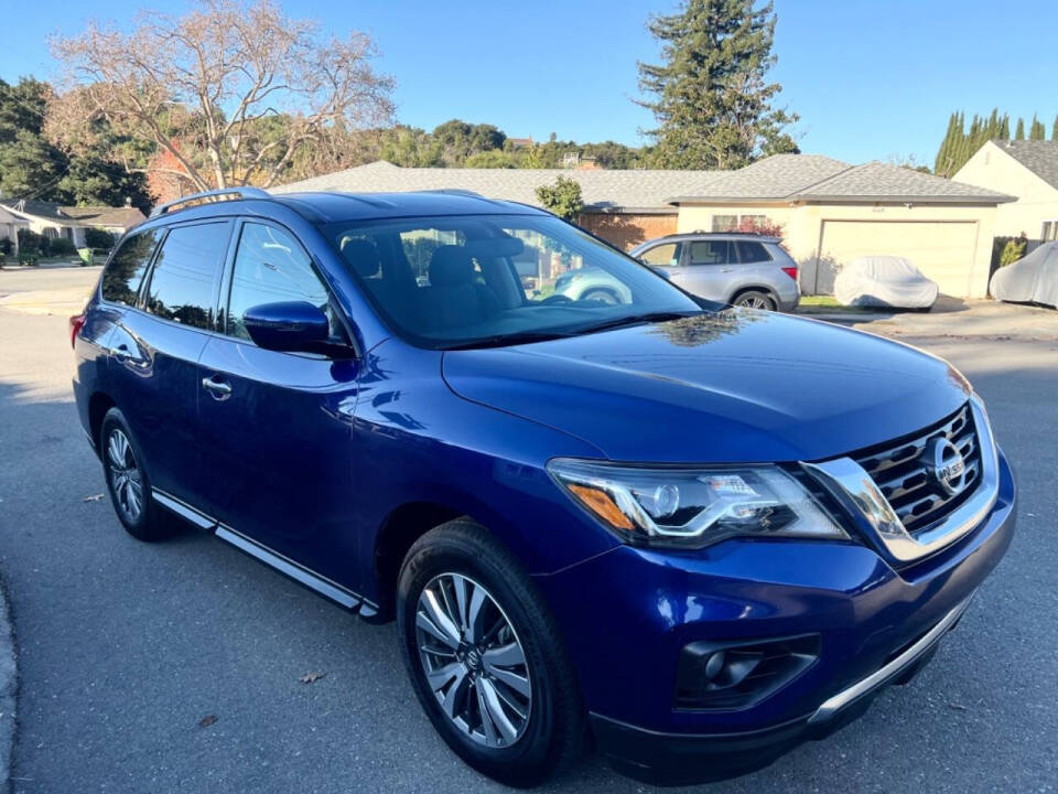
[[(1022, 489), (1011, 551), (913, 684), (711, 792), (1055, 791), (1058, 334), (914, 332), (899, 330), (950, 357), (989, 403)], [(360, 623), (204, 534), (140, 544), (105, 498), (85, 501), (104, 481), (75, 417), (71, 363), (65, 318), (0, 308), (14, 792), (501, 790), (434, 733), (392, 625)], [(300, 683), (306, 673), (325, 675)], [(646, 788), (593, 758), (547, 791)]]

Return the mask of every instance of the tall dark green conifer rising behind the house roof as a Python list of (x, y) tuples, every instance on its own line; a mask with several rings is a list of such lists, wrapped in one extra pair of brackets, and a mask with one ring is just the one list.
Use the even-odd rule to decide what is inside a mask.
[(736, 169), (763, 154), (797, 151), (785, 131), (797, 116), (775, 109), (770, 2), (685, 0), (647, 28), (661, 63), (639, 63), (639, 88), (658, 122), (654, 163), (662, 168)]

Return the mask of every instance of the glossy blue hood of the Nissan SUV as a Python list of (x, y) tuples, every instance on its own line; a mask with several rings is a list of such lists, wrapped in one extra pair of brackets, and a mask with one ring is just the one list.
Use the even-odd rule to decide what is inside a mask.
[(725, 310), (444, 354), (465, 399), (613, 460), (821, 460), (915, 432), (968, 398), (946, 362), (822, 322)]

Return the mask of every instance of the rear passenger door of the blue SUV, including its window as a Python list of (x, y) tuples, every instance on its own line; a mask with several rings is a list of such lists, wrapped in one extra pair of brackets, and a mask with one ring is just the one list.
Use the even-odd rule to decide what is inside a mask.
[[(191, 502), (202, 489), (197, 361), (214, 328), (230, 230), (222, 219), (148, 233), (164, 238), (140, 293), (127, 291), (134, 307), (109, 340), (114, 398), (143, 451), (152, 486)], [(148, 246), (145, 236), (140, 246)]]

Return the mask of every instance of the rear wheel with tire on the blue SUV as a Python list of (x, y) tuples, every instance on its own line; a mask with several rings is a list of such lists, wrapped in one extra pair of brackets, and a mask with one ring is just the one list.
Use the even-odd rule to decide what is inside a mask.
[(143, 453), (125, 415), (111, 408), (99, 429), (99, 452), (110, 493), (110, 504), (121, 526), (137, 540), (161, 540), (176, 524), (151, 497), (151, 479)]

